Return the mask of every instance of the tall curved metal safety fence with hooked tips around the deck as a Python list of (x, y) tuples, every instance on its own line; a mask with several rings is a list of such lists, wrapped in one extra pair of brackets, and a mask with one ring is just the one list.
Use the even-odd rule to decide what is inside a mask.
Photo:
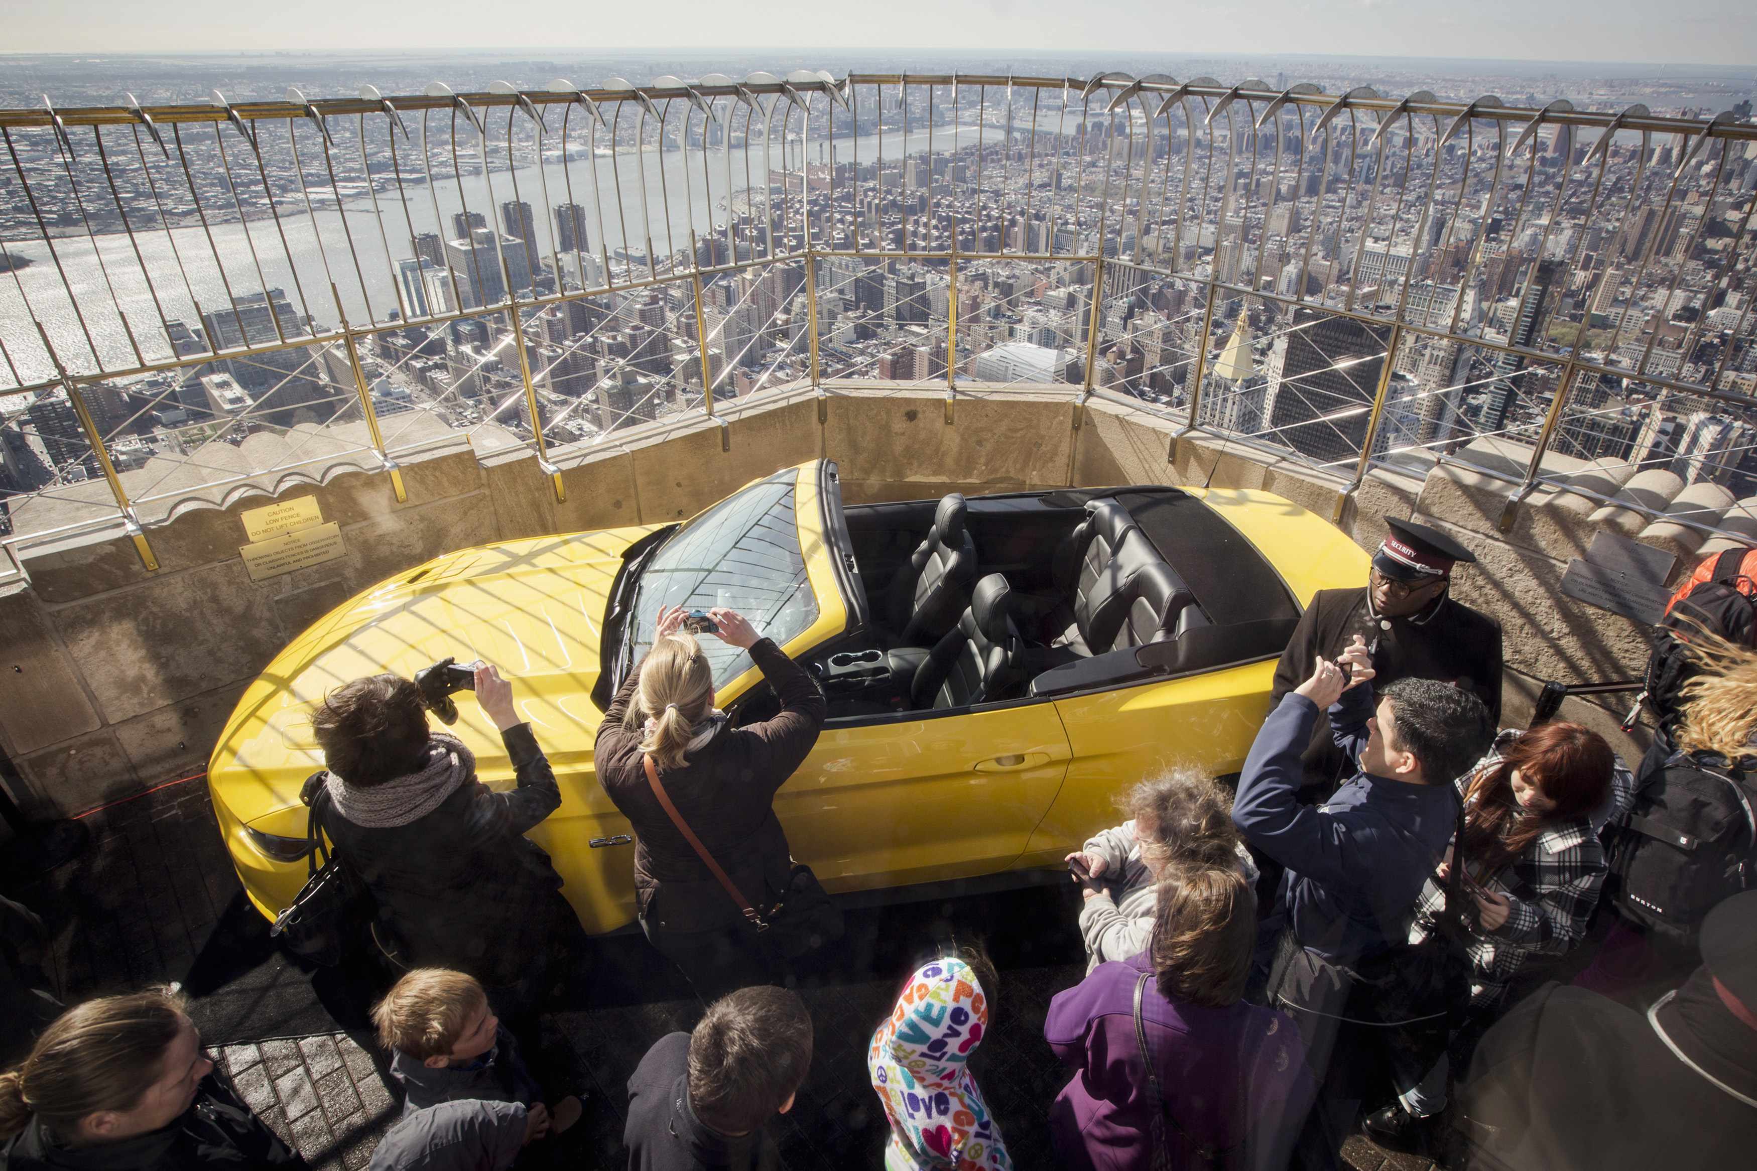
[[(1757, 527), (1757, 125), (794, 72), (0, 111), (0, 539), (847, 379)], [(951, 407), (949, 407), (951, 418)], [(1346, 492), (1344, 497), (1346, 499)], [(1341, 504), (1339, 504), (1341, 507)], [(1736, 530), (1741, 530), (1734, 527)]]

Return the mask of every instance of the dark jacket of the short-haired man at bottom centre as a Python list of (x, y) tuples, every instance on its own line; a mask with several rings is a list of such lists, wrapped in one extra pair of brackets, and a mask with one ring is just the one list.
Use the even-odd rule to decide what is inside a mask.
[(671, 1032), (647, 1050), (629, 1078), (629, 1117), (622, 1143), (629, 1171), (773, 1171), (780, 1152), (768, 1129), (727, 1138), (710, 1131), (689, 1106), (689, 1034)]

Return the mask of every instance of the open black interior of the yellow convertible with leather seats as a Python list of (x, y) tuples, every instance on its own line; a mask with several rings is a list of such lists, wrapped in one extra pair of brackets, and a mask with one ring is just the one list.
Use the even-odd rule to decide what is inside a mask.
[(1177, 488), (843, 509), (866, 621), (810, 655), (831, 718), (963, 709), (1279, 655), (1298, 604)]

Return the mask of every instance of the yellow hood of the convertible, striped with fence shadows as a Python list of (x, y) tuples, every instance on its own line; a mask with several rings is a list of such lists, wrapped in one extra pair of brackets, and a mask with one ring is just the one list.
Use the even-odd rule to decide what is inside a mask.
[[(293, 639), (244, 692), (209, 764), (214, 792), (246, 825), (271, 818), (271, 830), (293, 830), (288, 816), (276, 815), (297, 804), (304, 779), (323, 767), (311, 706), (350, 679), (385, 671), (411, 678), (446, 655), (501, 667), (555, 769), (589, 767), (603, 718), (590, 692), (604, 600), (622, 551), (652, 528), (446, 553), (344, 602)], [(490, 783), (511, 779), (494, 723), (471, 695), (455, 699), (459, 722), (446, 730), (476, 753), (476, 774)]]

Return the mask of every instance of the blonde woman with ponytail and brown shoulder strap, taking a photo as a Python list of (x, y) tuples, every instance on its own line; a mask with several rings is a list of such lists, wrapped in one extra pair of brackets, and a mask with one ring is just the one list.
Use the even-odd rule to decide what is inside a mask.
[(647, 779), (650, 758), (678, 815), (748, 899), (785, 890), (791, 857), (775, 790), (824, 727), (824, 693), (773, 639), (736, 611), (710, 609), (715, 637), (750, 653), (780, 713), (740, 729), (713, 706), (713, 671), (685, 611), (659, 611), (654, 646), (629, 672), (597, 729), (597, 783), (634, 827), (641, 930), (705, 1001), (770, 983), (741, 909), (673, 825)]

